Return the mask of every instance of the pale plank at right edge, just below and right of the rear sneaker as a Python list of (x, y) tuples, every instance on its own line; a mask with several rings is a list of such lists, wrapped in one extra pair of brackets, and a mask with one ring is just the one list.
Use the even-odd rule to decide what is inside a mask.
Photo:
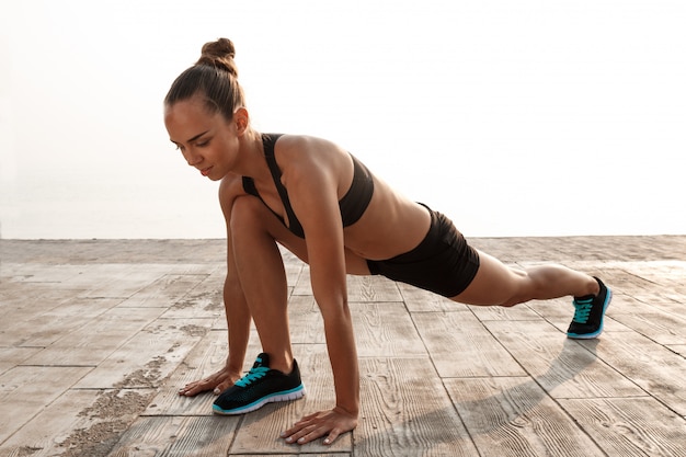
[(634, 332), (608, 332), (597, 344), (596, 354), (650, 396), (686, 415), (683, 356)]

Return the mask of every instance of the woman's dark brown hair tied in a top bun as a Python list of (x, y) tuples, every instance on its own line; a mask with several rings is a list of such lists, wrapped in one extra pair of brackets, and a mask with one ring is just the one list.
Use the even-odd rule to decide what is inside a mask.
[(245, 106), (243, 89), (238, 83), (238, 68), (233, 61), (236, 48), (228, 38), (205, 43), (201, 58), (174, 80), (164, 104), (199, 95), (210, 113), (220, 112), (230, 121), (233, 112)]

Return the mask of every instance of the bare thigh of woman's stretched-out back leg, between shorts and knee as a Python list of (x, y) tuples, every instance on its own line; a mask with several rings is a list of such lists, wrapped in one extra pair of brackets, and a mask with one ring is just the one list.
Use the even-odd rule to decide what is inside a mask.
[(526, 286), (527, 274), (479, 251), (479, 271), (469, 286), (451, 300), (467, 305), (511, 306)]

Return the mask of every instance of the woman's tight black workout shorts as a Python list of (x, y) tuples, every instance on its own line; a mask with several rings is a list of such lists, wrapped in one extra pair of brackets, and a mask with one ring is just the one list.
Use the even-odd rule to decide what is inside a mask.
[(477, 275), (479, 253), (467, 244), (450, 219), (427, 209), (431, 227), (416, 248), (388, 260), (367, 260), (367, 265), (371, 274), (380, 274), (444, 297), (455, 297)]

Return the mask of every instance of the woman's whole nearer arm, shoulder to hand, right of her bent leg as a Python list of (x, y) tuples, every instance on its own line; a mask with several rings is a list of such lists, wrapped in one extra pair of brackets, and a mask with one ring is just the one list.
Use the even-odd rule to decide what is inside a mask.
[(359, 412), (359, 369), (347, 306), (338, 172), (332, 163), (304, 160), (287, 175), (285, 184), (306, 235), (312, 293), (324, 321), (336, 404), (330, 411), (304, 418), (284, 436), (288, 442), (305, 444), (328, 434), (324, 443), (330, 444), (357, 425)]

